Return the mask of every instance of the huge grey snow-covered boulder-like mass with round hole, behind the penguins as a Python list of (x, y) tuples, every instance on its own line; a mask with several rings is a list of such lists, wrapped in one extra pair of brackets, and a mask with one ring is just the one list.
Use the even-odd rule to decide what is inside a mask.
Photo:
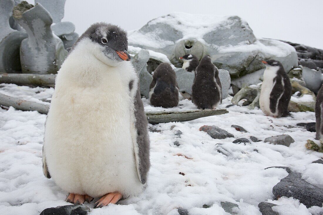
[[(228, 70), (232, 78), (258, 71), (248, 85), (260, 82), (265, 68), (261, 60), (279, 60), (286, 71), (298, 65), (294, 47), (277, 40), (257, 39), (238, 16), (172, 13), (130, 32), (129, 44), (163, 53), (176, 67), (182, 67), (180, 56), (194, 54), (200, 59), (210, 55), (212, 62)], [(239, 88), (242, 85), (237, 84)]]

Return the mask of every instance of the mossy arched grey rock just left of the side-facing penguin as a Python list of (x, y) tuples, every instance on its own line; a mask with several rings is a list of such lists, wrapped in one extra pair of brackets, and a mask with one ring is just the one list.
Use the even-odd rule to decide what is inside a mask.
[(248, 102), (250, 102), (248, 109), (259, 107), (260, 89), (261, 85), (251, 85), (244, 87), (234, 95), (231, 102), (234, 105), (238, 105), (240, 100), (246, 99)]

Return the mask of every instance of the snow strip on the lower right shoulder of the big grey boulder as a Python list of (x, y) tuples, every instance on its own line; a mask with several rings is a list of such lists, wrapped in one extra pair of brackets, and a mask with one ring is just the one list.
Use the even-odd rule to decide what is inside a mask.
[(219, 53), (228, 53), (228, 52), (260, 52), (265, 55), (272, 55), (276, 57), (285, 57), (293, 52), (295, 52), (295, 48), (290, 46), (287, 43), (278, 41), (278, 40), (268, 40), (261, 39), (266, 41), (268, 45), (261, 43), (261, 41), (257, 40), (253, 44), (249, 44), (243, 42), (239, 45), (232, 46), (220, 46), (217, 47)]

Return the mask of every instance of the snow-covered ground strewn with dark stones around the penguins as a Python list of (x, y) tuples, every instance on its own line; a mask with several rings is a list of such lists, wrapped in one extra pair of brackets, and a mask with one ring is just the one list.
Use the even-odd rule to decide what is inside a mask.
[[(50, 99), (53, 89), (0, 84), (0, 93), (44, 102)], [(231, 104), (230, 100), (230, 96), (224, 99), (219, 108)], [(151, 107), (147, 99), (143, 102), (146, 110), (166, 110)], [(181, 100), (178, 107), (167, 110), (175, 109), (196, 108), (190, 101)], [(305, 148), (306, 140), (314, 140), (315, 133), (296, 126), (297, 123), (315, 121), (315, 114), (300, 112), (291, 113), (287, 118), (271, 118), (264, 116), (259, 109), (232, 106), (227, 110), (229, 113), (224, 115), (189, 122), (150, 125), (150, 129), (155, 130), (149, 132), (151, 170), (147, 189), (137, 197), (120, 201), (118, 205), (91, 209), (90, 215), (177, 215), (178, 207), (187, 209), (192, 215), (229, 215), (221, 208), (221, 201), (238, 204), (239, 209), (235, 209), (239, 215), (260, 215), (257, 205), (267, 200), (279, 205), (275, 210), (284, 215), (305, 215), (322, 210), (318, 207), (307, 209), (293, 198), (272, 201), (273, 186), (286, 177), (287, 172), (277, 168), (265, 170), (271, 166), (288, 166), (304, 173), (303, 178), (308, 182), (323, 187), (323, 165), (310, 164), (323, 154)], [(0, 109), (0, 214), (38, 215), (45, 208), (69, 204), (64, 201), (67, 193), (52, 179), (46, 179), (42, 172), (45, 118), (46, 115), (36, 111)], [(175, 127), (171, 130), (173, 125)], [(216, 125), (234, 134), (235, 138), (212, 139), (199, 131), (203, 125)], [(239, 132), (231, 125), (242, 126), (249, 133)], [(181, 130), (182, 135), (176, 136), (175, 130)], [(290, 135), (295, 142), (289, 147), (263, 141), (247, 145), (232, 143), (236, 138), (255, 136), (264, 140), (280, 134)], [(178, 141), (180, 146), (175, 146), (174, 141)], [(226, 151), (226, 155), (215, 149), (217, 143), (222, 143), (221, 150)], [(211, 207), (202, 208), (204, 204)], [(88, 206), (93, 208), (94, 203)]]

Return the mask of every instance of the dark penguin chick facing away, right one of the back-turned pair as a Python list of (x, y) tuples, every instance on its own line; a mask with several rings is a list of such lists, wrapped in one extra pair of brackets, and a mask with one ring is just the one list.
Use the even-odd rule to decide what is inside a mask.
[(192, 86), (192, 101), (200, 109), (214, 109), (222, 103), (222, 86), (219, 70), (211, 62), (210, 56), (204, 56), (195, 70)]

